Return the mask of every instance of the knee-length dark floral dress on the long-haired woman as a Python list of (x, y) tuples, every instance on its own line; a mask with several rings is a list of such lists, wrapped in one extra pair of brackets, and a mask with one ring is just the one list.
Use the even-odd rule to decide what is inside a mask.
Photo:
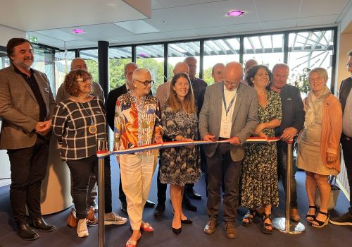
[[(161, 113), (165, 140), (175, 140), (177, 135), (196, 140), (198, 138), (198, 119), (196, 113), (173, 112), (165, 104)], [(161, 150), (159, 160), (160, 181), (184, 186), (195, 183), (201, 175), (199, 148), (194, 146), (169, 147)]]

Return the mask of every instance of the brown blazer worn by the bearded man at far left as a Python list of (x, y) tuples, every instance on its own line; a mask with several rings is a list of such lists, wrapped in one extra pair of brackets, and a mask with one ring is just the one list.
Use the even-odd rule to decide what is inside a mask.
[[(49, 80), (34, 70), (39, 90), (46, 105), (46, 120), (51, 119), (55, 106)], [(13, 65), (0, 70), (0, 149), (32, 147), (37, 140), (34, 127), (39, 121), (39, 104), (25, 79), (15, 73)]]

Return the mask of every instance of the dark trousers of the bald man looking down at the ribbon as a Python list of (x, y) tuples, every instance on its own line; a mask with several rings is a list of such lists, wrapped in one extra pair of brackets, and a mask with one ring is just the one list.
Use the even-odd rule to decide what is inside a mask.
[(225, 222), (234, 222), (237, 217), (239, 201), (239, 178), (242, 161), (234, 162), (230, 155), (230, 144), (221, 143), (213, 157), (207, 157), (208, 164), (208, 201), (206, 212), (210, 218), (218, 219), (221, 203), (222, 178), (225, 184), (223, 208)]

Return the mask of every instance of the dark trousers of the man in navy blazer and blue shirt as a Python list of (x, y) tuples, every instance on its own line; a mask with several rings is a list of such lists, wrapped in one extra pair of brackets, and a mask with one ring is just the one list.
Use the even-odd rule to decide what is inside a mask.
[[(293, 157), (293, 154), (292, 154)], [(292, 160), (292, 164), (291, 165), (291, 208), (298, 208), (298, 204), (297, 204), (297, 184), (296, 184), (296, 178), (295, 178), (295, 174), (296, 174), (296, 166), (293, 164), (293, 160)], [(279, 176), (281, 176), (282, 178), (282, 186), (284, 186), (284, 191), (286, 193), (286, 181), (287, 181), (287, 177), (286, 177), (286, 172), (287, 172), (287, 143), (284, 141), (279, 140), (277, 142), (277, 171)]]

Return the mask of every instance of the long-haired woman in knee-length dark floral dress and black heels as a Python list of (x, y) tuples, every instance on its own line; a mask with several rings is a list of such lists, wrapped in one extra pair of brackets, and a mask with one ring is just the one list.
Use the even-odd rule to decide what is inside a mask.
[[(165, 140), (192, 141), (198, 136), (198, 119), (191, 81), (186, 73), (172, 78), (170, 96), (161, 114)], [(199, 180), (201, 170), (195, 145), (170, 147), (161, 151), (159, 161), (161, 183), (170, 183), (174, 210), (172, 231), (180, 234), (181, 223), (191, 224), (182, 212), (184, 185)]]

